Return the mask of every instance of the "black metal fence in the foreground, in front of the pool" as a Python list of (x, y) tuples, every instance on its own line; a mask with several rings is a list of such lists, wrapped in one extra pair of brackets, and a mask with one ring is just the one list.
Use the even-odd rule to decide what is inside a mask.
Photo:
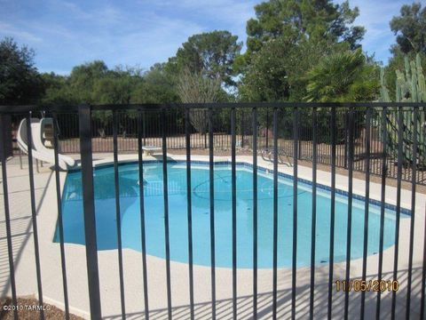
[[(411, 284), (413, 273), (413, 250), (414, 250), (414, 218), (419, 213), (416, 209), (416, 186), (425, 182), (424, 180), (424, 143), (425, 124), (420, 121), (424, 119), (426, 104), (424, 103), (245, 103), (245, 104), (182, 104), (182, 105), (130, 105), (130, 106), (89, 106), (79, 107), (52, 107), (37, 108), (32, 106), (23, 107), (0, 107), (0, 124), (5, 124), (6, 115), (20, 115), (27, 118), (28, 125), (28, 177), (30, 184), (30, 207), (32, 216), (32, 227), (35, 244), (36, 276), (38, 284), (38, 300), (43, 303), (43, 285), (40, 268), (40, 254), (38, 248), (37, 212), (34, 195), (33, 157), (31, 148), (30, 118), (36, 113), (44, 111), (45, 116), (52, 116), (54, 125), (54, 154), (55, 154), (55, 179), (57, 188), (58, 225), (60, 242), (60, 263), (62, 269), (62, 285), (64, 290), (64, 304), (67, 318), (69, 317), (69, 306), (67, 300), (67, 272), (66, 252), (63, 236), (62, 205), (59, 180), (59, 150), (60, 152), (77, 153), (81, 156), (81, 172), (83, 185), (83, 213), (85, 230), (86, 261), (88, 272), (88, 287), (90, 296), (91, 318), (99, 319), (101, 312), (101, 295), (99, 292), (99, 268), (98, 247), (96, 236), (94, 187), (93, 187), (93, 153), (111, 151), (114, 153), (114, 192), (116, 210), (116, 232), (118, 236), (118, 260), (120, 276), (120, 292), (117, 299), (121, 300), (122, 318), (126, 317), (126, 304), (124, 297), (123, 261), (122, 261), (122, 227), (120, 213), (120, 185), (118, 182), (118, 154), (121, 151), (138, 151), (139, 181), (144, 180), (144, 156), (142, 147), (144, 145), (159, 146), (162, 148), (162, 179), (163, 179), (163, 203), (164, 203), (164, 230), (165, 234), (165, 260), (166, 260), (166, 284), (167, 284), (167, 315), (172, 317), (172, 291), (170, 285), (170, 214), (173, 214), (169, 206), (168, 190), (168, 167), (167, 154), (170, 149), (183, 149), (186, 155), (186, 188), (187, 188), (187, 227), (188, 227), (188, 272), (189, 272), (189, 308), (190, 317), (194, 318), (194, 277), (193, 277), (193, 226), (192, 226), (192, 186), (191, 186), (191, 159), (192, 153), (197, 148), (209, 150), (209, 216), (211, 250), (211, 318), (217, 315), (217, 282), (216, 282), (216, 260), (215, 260), (215, 192), (214, 192), (214, 156), (220, 150), (227, 150), (231, 156), (232, 171), (232, 224), (233, 236), (229, 239), (233, 247), (233, 318), (238, 317), (237, 309), (237, 187), (236, 187), (236, 159), (240, 150), (246, 149), (252, 156), (253, 162), (253, 300), (251, 316), (257, 318), (258, 310), (258, 208), (257, 208), (257, 161), (258, 155), (263, 150), (269, 155), (268, 160), (273, 163), (273, 267), (272, 267), (272, 318), (277, 318), (277, 310), (280, 305), (287, 303), (278, 299), (278, 224), (280, 210), (278, 205), (278, 177), (281, 156), (292, 158), (293, 171), (293, 212), (292, 224), (293, 234), (292, 263), (291, 263), (291, 308), (288, 318), (296, 318), (297, 295), (297, 186), (298, 186), (298, 161), (308, 160), (312, 162), (312, 258), (310, 263), (310, 300), (309, 316), (315, 317), (315, 251), (316, 251), (316, 199), (317, 199), (317, 166), (328, 164), (331, 172), (331, 212), (330, 212), (330, 247), (328, 264), (328, 285), (323, 295), (327, 295), (327, 317), (333, 314), (334, 300), (334, 248), (335, 248), (335, 198), (336, 198), (336, 168), (343, 167), (348, 173), (348, 212), (347, 212), (347, 248), (345, 260), (344, 280), (346, 284), (351, 281), (351, 221), (354, 171), (365, 172), (367, 181), (365, 196), (370, 196), (370, 174), (381, 177), (382, 202), (381, 202), (381, 224), (380, 224), (380, 251), (377, 269), (377, 280), (380, 282), (383, 276), (383, 228), (386, 199), (386, 178), (397, 179), (396, 198), (396, 232), (394, 244), (394, 268), (392, 279), (398, 280), (398, 246), (399, 228), (401, 216), (401, 183), (402, 180), (411, 182), (411, 222), (409, 228), (409, 261), (406, 281), (406, 318), (410, 316)], [(410, 119), (406, 121), (406, 119)], [(78, 132), (76, 131), (78, 129)], [(9, 261), (9, 281), (12, 290), (12, 301), (16, 305), (17, 293), (15, 284), (15, 261), (13, 260), (11, 213), (9, 210), (9, 190), (7, 175), (6, 146), (8, 137), (5, 132), (0, 131), (1, 163), (3, 176), (4, 196), (4, 223), (7, 238), (7, 253)], [(78, 145), (76, 144), (78, 143)], [(145, 300), (141, 301), (146, 319), (150, 316), (148, 306), (148, 283), (146, 269), (146, 226), (144, 207), (144, 184), (139, 183), (140, 193), (140, 217), (141, 217), (141, 247), (143, 265), (143, 288)], [(364, 283), (367, 279), (367, 241), (368, 241), (368, 212), (369, 201), (365, 201), (364, 243), (362, 255), (362, 276), (360, 280)], [(424, 208), (422, 208), (424, 214)], [(424, 216), (422, 217), (424, 220)], [(425, 233), (426, 235), (426, 233)], [(160, 236), (160, 235), (159, 235)], [(417, 235), (419, 236), (419, 235)], [(422, 242), (426, 243), (426, 236)], [(426, 255), (426, 246), (423, 248), (423, 257)], [(67, 268), (73, 268), (68, 266)], [(425, 306), (425, 279), (426, 264), (423, 258), (421, 291), (420, 291), (420, 317), (424, 318)], [(59, 279), (58, 279), (59, 280)], [(60, 281), (60, 280), (59, 280)], [(377, 291), (375, 317), (380, 318), (381, 292)], [(398, 297), (399, 298), (399, 297)], [(401, 298), (399, 298), (400, 300)], [(344, 292), (343, 315), (349, 315), (349, 291)], [(370, 318), (367, 315), (366, 295), (362, 293), (359, 305), (360, 318)], [(397, 292), (391, 293), (390, 317), (395, 318), (397, 306)], [(17, 310), (14, 313), (18, 316)], [(43, 318), (43, 310), (40, 311)], [(340, 317), (340, 316), (339, 316)]]

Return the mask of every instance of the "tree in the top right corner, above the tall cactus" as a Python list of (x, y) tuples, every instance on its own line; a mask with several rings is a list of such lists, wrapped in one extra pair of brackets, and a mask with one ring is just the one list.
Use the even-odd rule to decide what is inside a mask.
[(401, 15), (390, 20), (390, 29), (397, 36), (397, 46), (393, 52), (399, 49), (403, 53), (426, 53), (426, 7), (422, 4), (404, 4), (401, 7)]

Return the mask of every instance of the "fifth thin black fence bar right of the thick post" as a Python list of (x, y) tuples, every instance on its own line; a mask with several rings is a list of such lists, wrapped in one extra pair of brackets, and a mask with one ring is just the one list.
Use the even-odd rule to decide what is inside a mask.
[(216, 249), (215, 249), (215, 164), (213, 155), (213, 110), (209, 108), (209, 204), (210, 204), (210, 273), (211, 318), (216, 319)]

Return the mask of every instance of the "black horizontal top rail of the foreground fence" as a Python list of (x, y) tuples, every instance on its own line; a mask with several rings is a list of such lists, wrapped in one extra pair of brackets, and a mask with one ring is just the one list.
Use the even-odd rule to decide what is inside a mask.
[(69, 112), (79, 108), (92, 110), (121, 111), (121, 110), (156, 110), (178, 108), (426, 108), (426, 102), (211, 102), (211, 103), (144, 103), (144, 104), (105, 104), (105, 105), (0, 105), (1, 114), (19, 114), (25, 112)]

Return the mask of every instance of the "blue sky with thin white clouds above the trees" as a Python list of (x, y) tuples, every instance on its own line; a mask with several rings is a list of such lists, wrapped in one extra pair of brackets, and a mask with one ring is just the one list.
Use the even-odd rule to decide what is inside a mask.
[[(343, 0), (336, 0), (341, 3)], [(36, 51), (41, 72), (67, 75), (76, 65), (104, 60), (109, 68), (148, 69), (176, 54), (193, 34), (225, 29), (246, 42), (246, 22), (261, 0), (0, 0), (0, 38)], [(426, 0), (420, 1), (426, 5)], [(359, 7), (368, 54), (387, 63), (395, 36), (390, 19), (408, 0), (350, 0)]]

